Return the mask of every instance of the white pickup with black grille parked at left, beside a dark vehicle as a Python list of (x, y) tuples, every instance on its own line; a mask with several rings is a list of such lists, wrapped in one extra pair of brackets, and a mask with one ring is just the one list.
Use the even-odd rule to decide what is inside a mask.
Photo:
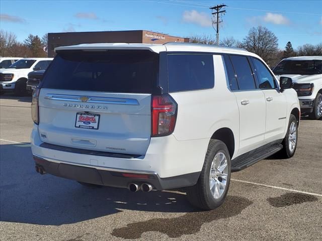
[(46, 69), (52, 58), (25, 58), (12, 64), (0, 73), (0, 92), (14, 91), (15, 95), (27, 93), (28, 73), (33, 70)]

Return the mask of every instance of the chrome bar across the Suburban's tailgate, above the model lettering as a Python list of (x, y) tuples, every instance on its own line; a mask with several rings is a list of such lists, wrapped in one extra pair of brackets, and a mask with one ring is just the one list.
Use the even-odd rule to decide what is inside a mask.
[[(82, 101), (82, 97), (88, 97), (88, 101)], [(137, 101), (137, 99), (116, 98), (116, 97), (99, 97), (99, 96), (84, 96), (84, 95), (69, 95), (69, 94), (46, 94), (45, 99), (74, 101), (74, 102), (83, 102), (83, 103), (139, 105), (139, 102)]]

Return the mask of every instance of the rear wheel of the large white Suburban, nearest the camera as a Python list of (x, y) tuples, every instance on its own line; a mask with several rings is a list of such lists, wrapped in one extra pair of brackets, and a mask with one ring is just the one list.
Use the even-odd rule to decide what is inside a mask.
[[(222, 167), (224, 166), (222, 165), (221, 170), (223, 171), (215, 173), (214, 169), (212, 169), (213, 161), (215, 161), (215, 157), (217, 157), (216, 160), (219, 160), (219, 165), (215, 164), (215, 166), (220, 167), (220, 159), (222, 159), (222, 155), (224, 155), (226, 159), (226, 167), (222, 169)], [(221, 164), (223, 163), (224, 161), (221, 162)], [(215, 176), (215, 179), (212, 179), (212, 181), (210, 179), (211, 169), (213, 171), (213, 175)], [(230, 169), (230, 155), (226, 145), (219, 140), (210, 140), (198, 182), (196, 185), (186, 188), (187, 198), (189, 202), (193, 206), (204, 210), (211, 210), (219, 207), (224, 202), (229, 189)], [(226, 175), (226, 180), (224, 180), (223, 174)], [(225, 185), (224, 187), (222, 187), (222, 185), (220, 185), (219, 182), (224, 181)], [(210, 185), (212, 185), (213, 183), (215, 183), (215, 185), (211, 191)], [(219, 187), (219, 192), (216, 192), (216, 187)], [(215, 197), (216, 195), (217, 197)]]

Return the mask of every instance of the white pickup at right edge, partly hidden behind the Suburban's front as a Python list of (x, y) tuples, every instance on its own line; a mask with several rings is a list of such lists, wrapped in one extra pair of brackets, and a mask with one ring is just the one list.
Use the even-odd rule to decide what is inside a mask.
[(301, 112), (308, 113), (312, 119), (322, 117), (322, 56), (283, 59), (273, 72), (277, 77), (292, 79)]

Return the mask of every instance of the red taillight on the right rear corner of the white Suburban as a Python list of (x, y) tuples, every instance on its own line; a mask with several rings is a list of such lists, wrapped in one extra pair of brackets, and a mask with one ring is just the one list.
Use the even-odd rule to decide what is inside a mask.
[(169, 95), (152, 95), (151, 137), (168, 136), (173, 133), (177, 119), (177, 103)]

